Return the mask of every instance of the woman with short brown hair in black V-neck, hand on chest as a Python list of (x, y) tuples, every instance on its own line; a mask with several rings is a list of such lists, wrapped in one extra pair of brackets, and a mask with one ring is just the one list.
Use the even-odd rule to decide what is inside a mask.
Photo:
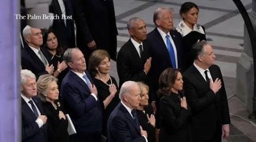
[(100, 105), (103, 111), (102, 134), (107, 136), (107, 122), (110, 113), (119, 103), (119, 90), (115, 78), (109, 75), (110, 56), (109, 53), (98, 49), (89, 57), (89, 72), (93, 77), (94, 85), (98, 90)]

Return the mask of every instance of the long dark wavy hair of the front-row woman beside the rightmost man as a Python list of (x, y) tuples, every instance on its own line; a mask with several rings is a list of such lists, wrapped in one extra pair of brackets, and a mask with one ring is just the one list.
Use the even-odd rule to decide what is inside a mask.
[(159, 89), (156, 94), (158, 97), (162, 97), (162, 95), (169, 95), (171, 92), (171, 87), (174, 86), (175, 80), (177, 78), (177, 73), (181, 73), (180, 69), (165, 69), (160, 77), (159, 77)]

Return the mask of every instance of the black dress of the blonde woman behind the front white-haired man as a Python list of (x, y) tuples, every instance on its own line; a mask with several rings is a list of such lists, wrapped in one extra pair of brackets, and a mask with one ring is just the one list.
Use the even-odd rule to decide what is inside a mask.
[(147, 141), (148, 142), (155, 142), (155, 127), (153, 127), (150, 123), (148, 123), (147, 115), (150, 116), (154, 114), (154, 110), (151, 105), (144, 107), (144, 110), (137, 110), (137, 116), (139, 119), (139, 124), (143, 130), (147, 131)]

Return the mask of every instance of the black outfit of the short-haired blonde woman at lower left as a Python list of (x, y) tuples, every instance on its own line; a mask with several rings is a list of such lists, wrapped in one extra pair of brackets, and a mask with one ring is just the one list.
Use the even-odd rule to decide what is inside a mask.
[(59, 119), (59, 111), (63, 111), (63, 106), (57, 103), (57, 110), (50, 102), (43, 102), (44, 112), (47, 116), (47, 138), (48, 142), (69, 142), (68, 120)]

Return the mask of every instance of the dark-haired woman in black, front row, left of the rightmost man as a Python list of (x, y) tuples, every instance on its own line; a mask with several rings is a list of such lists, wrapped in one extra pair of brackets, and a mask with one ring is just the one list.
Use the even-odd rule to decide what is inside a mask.
[(189, 126), (191, 111), (182, 90), (183, 80), (179, 69), (165, 69), (159, 77), (158, 90), (160, 142), (192, 141)]

